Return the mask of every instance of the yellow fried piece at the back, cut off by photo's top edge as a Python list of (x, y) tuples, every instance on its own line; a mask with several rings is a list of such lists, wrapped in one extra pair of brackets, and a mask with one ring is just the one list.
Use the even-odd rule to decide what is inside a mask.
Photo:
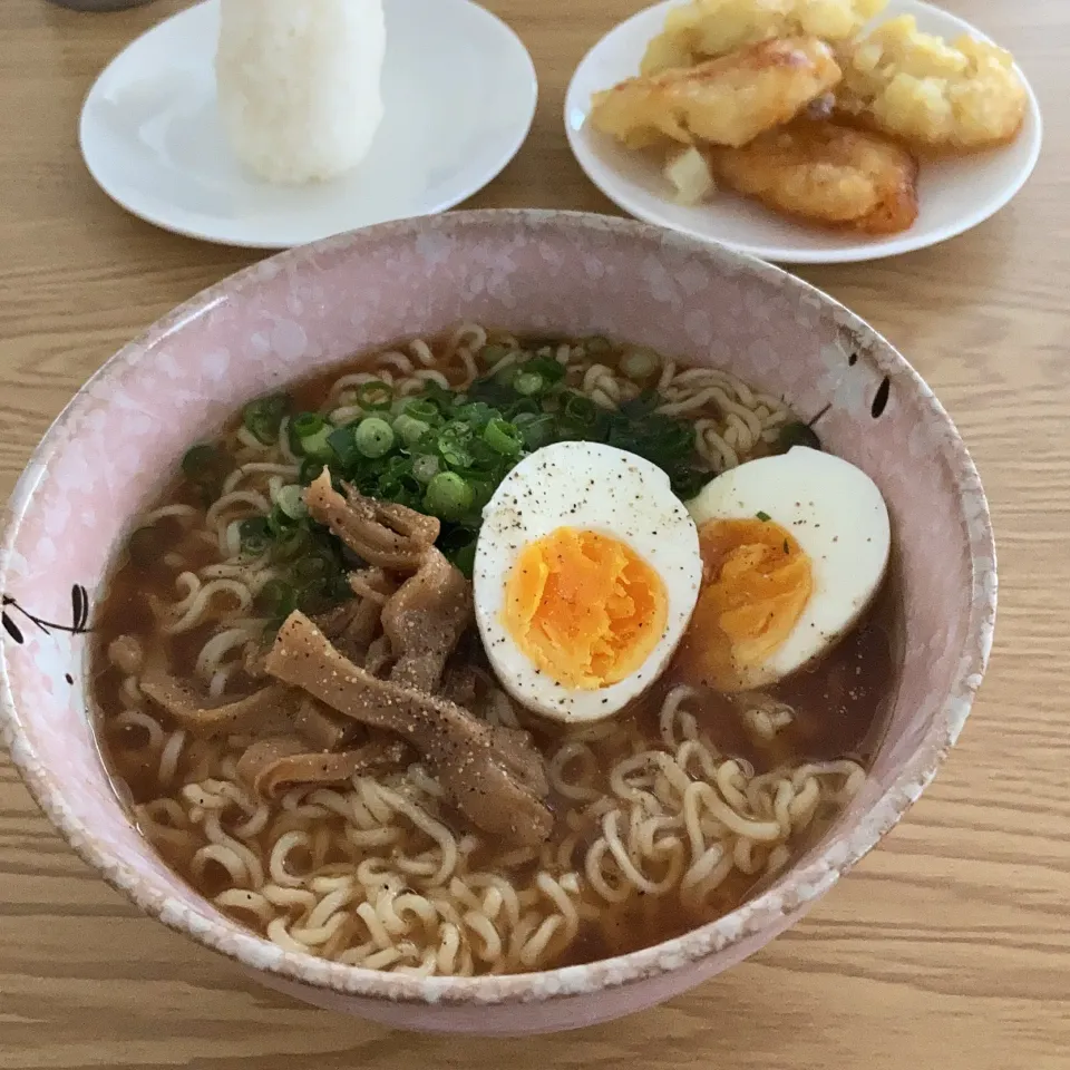
[(646, 46), (640, 72), (692, 67), (778, 37), (853, 38), (887, 0), (692, 0), (673, 8)]

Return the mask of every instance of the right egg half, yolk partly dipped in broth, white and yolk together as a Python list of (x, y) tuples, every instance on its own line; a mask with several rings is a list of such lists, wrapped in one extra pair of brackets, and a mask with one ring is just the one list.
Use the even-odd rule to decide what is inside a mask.
[(888, 510), (859, 468), (796, 446), (718, 476), (688, 503), (703, 575), (680, 651), (687, 678), (761, 688), (818, 659), (888, 565)]

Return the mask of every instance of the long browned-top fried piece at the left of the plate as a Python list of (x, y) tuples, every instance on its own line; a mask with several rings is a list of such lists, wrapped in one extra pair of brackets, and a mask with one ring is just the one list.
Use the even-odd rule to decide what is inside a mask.
[(591, 121), (630, 148), (663, 137), (684, 145), (746, 145), (794, 118), (839, 82), (816, 37), (763, 41), (689, 70), (639, 76), (594, 95)]

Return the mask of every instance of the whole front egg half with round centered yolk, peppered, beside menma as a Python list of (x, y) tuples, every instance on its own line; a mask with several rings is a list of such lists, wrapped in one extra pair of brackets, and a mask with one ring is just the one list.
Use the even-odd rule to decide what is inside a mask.
[(525, 457), (484, 509), (476, 620), (518, 702), (594, 721), (665, 668), (701, 578), (698, 531), (660, 468), (600, 442), (557, 442)]

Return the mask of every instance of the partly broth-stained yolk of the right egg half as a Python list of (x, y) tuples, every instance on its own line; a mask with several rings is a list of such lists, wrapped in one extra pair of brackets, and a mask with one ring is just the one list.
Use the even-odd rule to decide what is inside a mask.
[(708, 521), (699, 528), (702, 587), (680, 655), (683, 672), (718, 691), (791, 633), (814, 591), (810, 560), (772, 521)]

